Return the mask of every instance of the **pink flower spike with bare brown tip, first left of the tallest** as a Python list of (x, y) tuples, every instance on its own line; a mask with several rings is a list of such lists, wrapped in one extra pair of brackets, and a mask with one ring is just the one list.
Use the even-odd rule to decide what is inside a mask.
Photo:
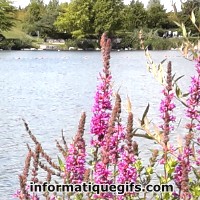
[(73, 144), (69, 145), (66, 157), (66, 178), (70, 183), (81, 183), (85, 173), (85, 141), (83, 139), (85, 113), (82, 114)]

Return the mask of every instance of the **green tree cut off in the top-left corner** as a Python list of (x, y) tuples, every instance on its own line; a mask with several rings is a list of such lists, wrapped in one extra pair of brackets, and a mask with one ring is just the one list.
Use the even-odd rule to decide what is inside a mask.
[(14, 25), (15, 8), (10, 1), (0, 0), (0, 32), (8, 31)]

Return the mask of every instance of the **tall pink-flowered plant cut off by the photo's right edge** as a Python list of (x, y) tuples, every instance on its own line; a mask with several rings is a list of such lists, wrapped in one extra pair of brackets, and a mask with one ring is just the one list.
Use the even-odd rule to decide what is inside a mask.
[[(181, 199), (191, 199), (192, 191), (189, 187), (189, 173), (194, 169), (197, 179), (199, 179), (198, 171), (200, 150), (199, 150), (199, 133), (200, 130), (200, 58), (196, 60), (197, 75), (191, 78), (191, 85), (189, 88), (189, 97), (186, 100), (186, 116), (189, 123), (186, 124), (188, 133), (185, 136), (185, 146), (178, 155), (178, 165), (175, 169), (174, 180), (179, 188), (177, 197)], [(192, 143), (192, 140), (194, 143)], [(194, 150), (196, 146), (196, 152)], [(193, 161), (192, 161), (193, 160)]]

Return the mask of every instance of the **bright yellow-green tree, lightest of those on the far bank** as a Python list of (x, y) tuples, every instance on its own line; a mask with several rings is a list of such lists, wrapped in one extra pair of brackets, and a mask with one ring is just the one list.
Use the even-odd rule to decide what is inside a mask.
[(68, 32), (75, 38), (83, 38), (94, 32), (94, 0), (72, 0), (65, 4), (63, 13), (55, 22), (59, 31)]

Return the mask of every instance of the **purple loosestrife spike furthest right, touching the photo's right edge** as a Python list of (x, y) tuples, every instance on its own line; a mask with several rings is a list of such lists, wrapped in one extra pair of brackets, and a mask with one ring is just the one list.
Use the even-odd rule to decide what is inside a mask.
[[(191, 171), (190, 156), (193, 155), (191, 148), (191, 140), (194, 137), (194, 130), (200, 130), (200, 113), (199, 113), (199, 98), (200, 98), (200, 58), (197, 59), (196, 64), (197, 76), (191, 78), (191, 86), (189, 89), (189, 98), (187, 99), (187, 110), (186, 116), (191, 120), (190, 123), (186, 125), (189, 129), (189, 133), (185, 136), (185, 146), (183, 148), (182, 154), (178, 157), (178, 165), (175, 168), (175, 183), (179, 188), (179, 198), (180, 199), (191, 199), (191, 194), (189, 193), (189, 172)], [(197, 139), (198, 142), (198, 139)], [(197, 152), (198, 153), (198, 152)], [(198, 165), (198, 158), (196, 160)]]

